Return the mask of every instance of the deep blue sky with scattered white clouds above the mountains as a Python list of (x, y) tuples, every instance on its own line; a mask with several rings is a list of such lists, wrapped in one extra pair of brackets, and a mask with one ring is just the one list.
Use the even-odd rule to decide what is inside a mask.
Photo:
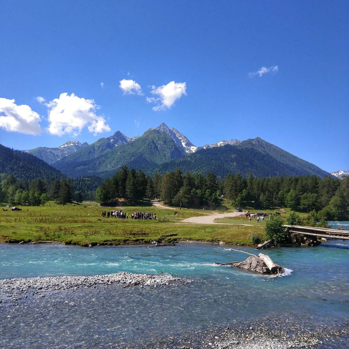
[(196, 146), (259, 136), (349, 170), (348, 15), (348, 1), (2, 0), (0, 142), (165, 122)]

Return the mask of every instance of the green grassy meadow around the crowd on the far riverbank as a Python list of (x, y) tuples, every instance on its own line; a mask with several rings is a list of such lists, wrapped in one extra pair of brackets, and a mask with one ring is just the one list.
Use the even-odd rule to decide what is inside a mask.
[[(205, 215), (201, 210), (172, 210), (147, 206), (124, 207), (128, 220), (101, 219), (101, 211), (113, 208), (98, 207), (95, 202), (83, 205), (23, 206), (22, 211), (0, 211), (1, 242), (57, 241), (81, 246), (97, 244), (143, 244), (158, 242), (207, 241), (252, 245), (251, 236), (264, 238), (264, 227), (240, 225), (204, 225), (180, 223), (193, 216)], [(86, 206), (86, 207), (84, 207)], [(151, 211), (155, 220), (131, 220), (131, 212)], [(178, 212), (178, 216), (174, 213)], [(166, 218), (164, 218), (166, 217)], [(225, 221), (226, 222), (226, 221)], [(176, 236), (166, 236), (177, 234)]]

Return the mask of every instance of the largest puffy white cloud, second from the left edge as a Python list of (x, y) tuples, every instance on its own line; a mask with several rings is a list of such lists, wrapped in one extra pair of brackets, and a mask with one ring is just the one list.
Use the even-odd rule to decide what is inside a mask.
[(59, 98), (53, 99), (46, 106), (50, 109), (47, 131), (51, 134), (58, 136), (77, 135), (87, 125), (89, 132), (93, 132), (95, 135), (110, 131), (103, 116), (95, 114), (99, 106), (93, 99), (79, 98), (73, 93), (70, 96), (67, 93), (62, 93)]

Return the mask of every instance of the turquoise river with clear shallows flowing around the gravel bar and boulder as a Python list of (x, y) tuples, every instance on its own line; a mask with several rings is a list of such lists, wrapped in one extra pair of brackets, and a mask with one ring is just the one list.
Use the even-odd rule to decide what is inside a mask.
[(163, 270), (189, 280), (3, 298), (0, 348), (349, 348), (348, 242), (265, 251), (284, 267), (279, 277), (215, 265), (248, 257), (233, 248), (259, 253), (201, 243), (0, 244), (0, 279)]

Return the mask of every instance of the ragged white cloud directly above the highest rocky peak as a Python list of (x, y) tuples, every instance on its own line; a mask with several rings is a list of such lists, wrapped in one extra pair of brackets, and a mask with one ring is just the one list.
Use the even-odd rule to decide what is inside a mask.
[(154, 111), (165, 110), (166, 108), (171, 108), (171, 106), (179, 99), (182, 95), (187, 95), (185, 82), (174, 82), (171, 81), (167, 85), (162, 85), (160, 87), (151, 86), (151, 93), (155, 97), (147, 97), (148, 103), (158, 103), (157, 106), (153, 107)]

